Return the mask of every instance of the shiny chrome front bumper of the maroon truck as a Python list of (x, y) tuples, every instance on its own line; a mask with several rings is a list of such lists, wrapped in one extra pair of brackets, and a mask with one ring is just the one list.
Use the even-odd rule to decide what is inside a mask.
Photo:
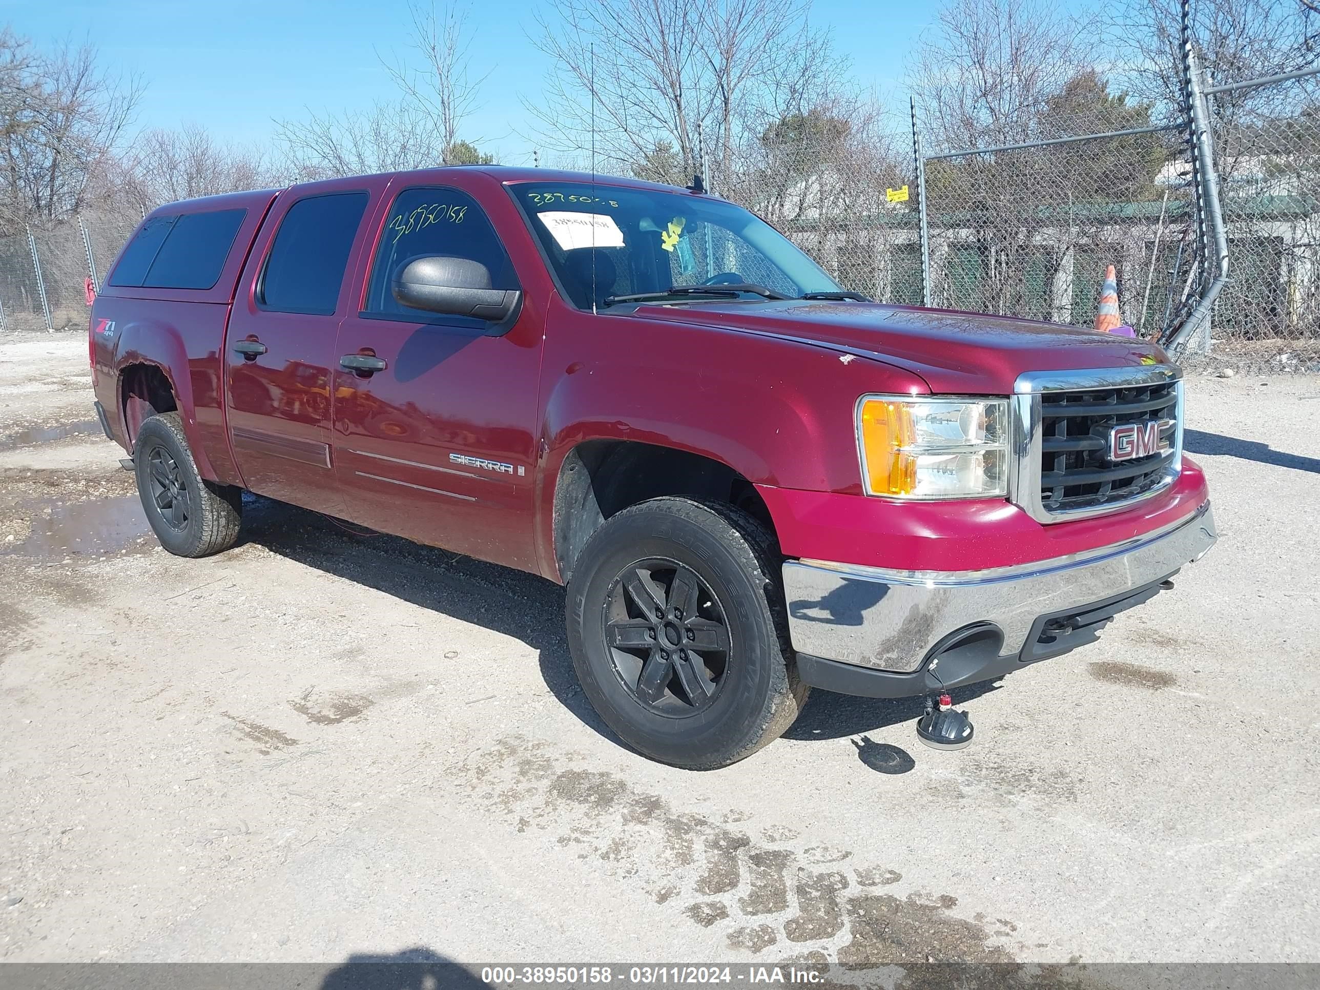
[(793, 648), (812, 657), (912, 673), (952, 634), (994, 626), (1001, 657), (1023, 653), (1038, 619), (1170, 577), (1214, 544), (1210, 503), (1164, 529), (1068, 557), (990, 570), (913, 572), (828, 561), (784, 564)]

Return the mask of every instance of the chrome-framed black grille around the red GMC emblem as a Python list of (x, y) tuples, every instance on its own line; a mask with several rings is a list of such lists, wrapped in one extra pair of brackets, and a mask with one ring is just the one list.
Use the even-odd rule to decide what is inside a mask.
[[(1043, 523), (1117, 512), (1166, 488), (1181, 463), (1183, 383), (1176, 368), (1024, 375), (1015, 396), (1012, 499)], [(1110, 432), (1148, 424), (1158, 449), (1110, 459)]]

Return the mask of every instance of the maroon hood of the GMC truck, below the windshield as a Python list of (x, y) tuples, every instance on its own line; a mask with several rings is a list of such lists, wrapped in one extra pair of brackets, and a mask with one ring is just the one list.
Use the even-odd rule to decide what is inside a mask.
[(1010, 395), (1024, 371), (1170, 364), (1155, 345), (1035, 319), (810, 300), (639, 306), (635, 315), (783, 337), (896, 366), (932, 392)]

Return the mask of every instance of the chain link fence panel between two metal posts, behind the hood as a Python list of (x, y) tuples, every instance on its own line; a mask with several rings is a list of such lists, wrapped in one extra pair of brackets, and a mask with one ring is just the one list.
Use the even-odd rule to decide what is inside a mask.
[(1191, 169), (1176, 137), (928, 157), (932, 304), (1089, 326), (1114, 265), (1126, 322), (1159, 335), (1195, 253)]

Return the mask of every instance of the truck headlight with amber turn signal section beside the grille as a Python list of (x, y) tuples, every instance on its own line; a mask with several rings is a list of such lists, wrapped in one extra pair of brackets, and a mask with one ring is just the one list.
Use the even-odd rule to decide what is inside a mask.
[(866, 395), (857, 441), (867, 495), (974, 499), (1008, 494), (1008, 400)]

